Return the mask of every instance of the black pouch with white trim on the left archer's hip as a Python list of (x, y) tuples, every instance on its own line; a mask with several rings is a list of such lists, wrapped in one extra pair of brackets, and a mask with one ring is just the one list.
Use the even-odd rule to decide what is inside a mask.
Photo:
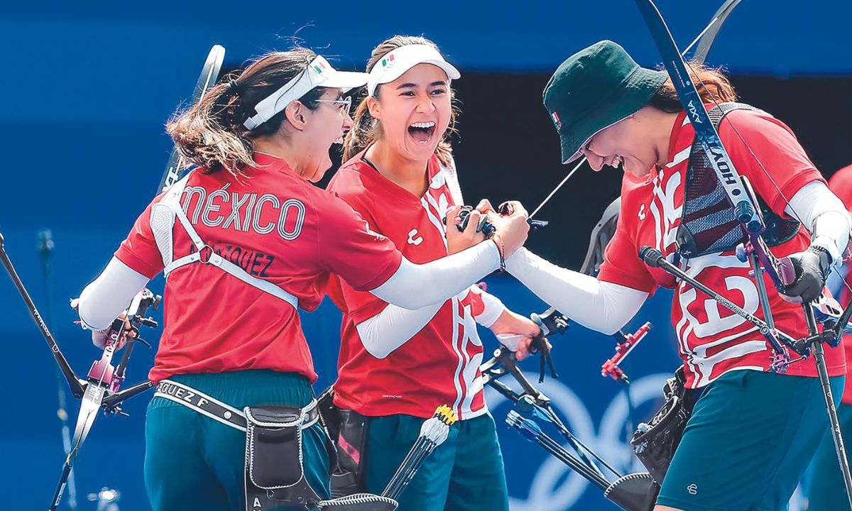
[(253, 406), (244, 413), (246, 510), (314, 508), (320, 496), (305, 479), (302, 429), (316, 422), (316, 409)]

